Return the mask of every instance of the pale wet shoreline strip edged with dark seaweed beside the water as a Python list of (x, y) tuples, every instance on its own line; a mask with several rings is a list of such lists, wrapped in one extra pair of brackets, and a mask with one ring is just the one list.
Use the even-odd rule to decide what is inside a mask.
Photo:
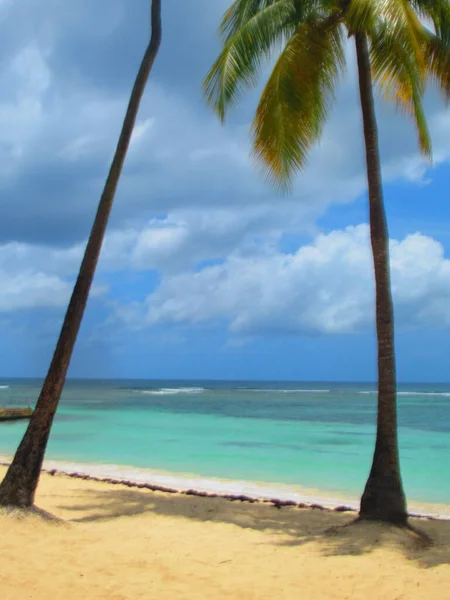
[[(10, 457), (0, 456), (0, 466), (8, 467)], [(181, 494), (202, 498), (223, 498), (231, 502), (265, 503), (276, 508), (292, 506), (330, 512), (358, 512), (359, 501), (321, 490), (306, 490), (287, 484), (239, 481), (170, 473), (137, 467), (102, 463), (68, 463), (44, 461), (43, 473), (80, 480), (123, 485), (167, 494)], [(409, 515), (429, 520), (450, 520), (450, 505), (408, 504)]]

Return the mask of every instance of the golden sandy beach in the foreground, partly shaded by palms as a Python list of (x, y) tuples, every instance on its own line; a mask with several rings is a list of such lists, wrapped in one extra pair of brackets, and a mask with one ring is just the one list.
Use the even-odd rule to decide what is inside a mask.
[[(0, 477), (5, 469), (0, 468)], [(352, 513), (230, 502), (43, 474), (37, 505), (2, 511), (2, 600), (418, 600), (450, 596), (450, 522), (434, 539)]]

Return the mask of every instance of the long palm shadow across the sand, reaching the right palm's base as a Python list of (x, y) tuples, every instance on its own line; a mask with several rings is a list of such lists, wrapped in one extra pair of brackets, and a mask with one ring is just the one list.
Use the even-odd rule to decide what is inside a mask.
[[(358, 556), (381, 546), (401, 552), (423, 568), (450, 564), (450, 521), (411, 519), (415, 527), (433, 540), (429, 546), (406, 529), (373, 522), (344, 526), (354, 520), (355, 513), (297, 507), (277, 509), (265, 503), (124, 488), (79, 493), (79, 504), (59, 506), (71, 522), (108, 521), (149, 513), (267, 531), (272, 534), (270, 543), (276, 545), (318, 543), (325, 556)], [(83, 516), (77, 516), (80, 512)]]

